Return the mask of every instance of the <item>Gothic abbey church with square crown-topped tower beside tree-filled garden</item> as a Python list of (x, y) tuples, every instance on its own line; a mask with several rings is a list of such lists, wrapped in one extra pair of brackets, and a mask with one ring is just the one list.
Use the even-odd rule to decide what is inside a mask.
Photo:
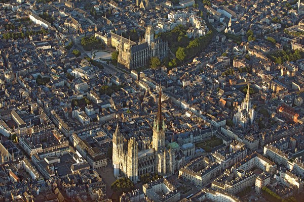
[(139, 43), (126, 40), (121, 36), (119, 43), (118, 65), (128, 70), (133, 70), (149, 64), (151, 57), (163, 59), (168, 56), (168, 41), (164, 42), (161, 38), (154, 38), (154, 29), (151, 25), (147, 26), (145, 38)]

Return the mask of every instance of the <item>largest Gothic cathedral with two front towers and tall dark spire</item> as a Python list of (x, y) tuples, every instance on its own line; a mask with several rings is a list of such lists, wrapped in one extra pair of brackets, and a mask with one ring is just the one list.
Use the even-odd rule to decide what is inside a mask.
[[(165, 121), (162, 118), (161, 90), (158, 103), (158, 114), (153, 126), (153, 142), (150, 148), (138, 151), (134, 137), (127, 140), (117, 125), (113, 133), (113, 167), (120, 175), (137, 183), (139, 176), (147, 173), (158, 173), (163, 176), (172, 175), (176, 169), (175, 150), (165, 145)], [(114, 171), (115, 173), (116, 170)]]

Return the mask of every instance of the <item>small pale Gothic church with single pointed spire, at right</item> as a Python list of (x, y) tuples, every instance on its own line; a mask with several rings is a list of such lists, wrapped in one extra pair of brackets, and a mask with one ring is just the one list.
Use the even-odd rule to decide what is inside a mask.
[(242, 128), (247, 128), (247, 126), (251, 125), (254, 120), (254, 109), (251, 107), (251, 98), (249, 94), (249, 84), (247, 89), (246, 97), (239, 107), (238, 112), (233, 117), (233, 123), (236, 126), (242, 126)]

